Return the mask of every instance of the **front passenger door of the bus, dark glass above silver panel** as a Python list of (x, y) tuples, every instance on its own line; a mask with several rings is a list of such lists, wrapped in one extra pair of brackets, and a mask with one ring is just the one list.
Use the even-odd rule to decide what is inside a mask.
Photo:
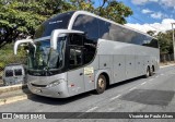
[(84, 91), (82, 37), (71, 35), (69, 41), (68, 87), (70, 96)]

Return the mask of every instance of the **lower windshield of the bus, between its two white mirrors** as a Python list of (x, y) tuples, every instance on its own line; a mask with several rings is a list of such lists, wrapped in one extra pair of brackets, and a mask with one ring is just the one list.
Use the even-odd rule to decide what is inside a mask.
[(57, 50), (50, 48), (50, 40), (36, 41), (36, 49), (30, 46), (28, 70), (51, 71), (63, 66), (66, 37), (58, 37)]

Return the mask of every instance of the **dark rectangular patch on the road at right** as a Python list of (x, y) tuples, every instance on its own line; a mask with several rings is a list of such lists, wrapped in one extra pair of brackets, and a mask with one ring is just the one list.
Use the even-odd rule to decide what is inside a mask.
[(121, 100), (135, 101), (144, 105), (167, 106), (175, 91), (158, 89), (133, 89), (121, 97)]

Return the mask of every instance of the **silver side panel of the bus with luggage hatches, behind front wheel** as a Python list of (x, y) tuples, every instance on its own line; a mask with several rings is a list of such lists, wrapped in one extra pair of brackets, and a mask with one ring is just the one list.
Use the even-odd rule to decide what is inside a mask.
[(148, 66), (159, 70), (160, 53), (155, 48), (100, 39), (97, 56), (107, 56), (103, 58), (106, 62), (100, 61), (100, 69), (104, 69), (103, 63), (113, 64), (107, 68), (112, 72), (110, 84), (144, 75)]

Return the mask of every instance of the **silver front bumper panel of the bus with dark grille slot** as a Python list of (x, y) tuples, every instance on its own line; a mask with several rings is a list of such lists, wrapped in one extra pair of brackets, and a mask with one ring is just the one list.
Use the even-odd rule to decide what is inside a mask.
[[(54, 87), (46, 87), (54, 81), (63, 80), (65, 82)], [(70, 97), (68, 90), (67, 73), (52, 76), (32, 76), (27, 75), (27, 86), (33, 94), (54, 98)]]

